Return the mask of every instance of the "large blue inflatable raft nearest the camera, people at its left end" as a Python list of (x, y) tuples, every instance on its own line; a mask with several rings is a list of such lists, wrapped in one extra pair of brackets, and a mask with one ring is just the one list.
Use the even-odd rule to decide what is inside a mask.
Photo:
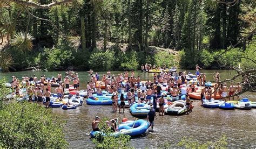
[[(120, 124), (118, 126), (118, 132), (113, 132), (110, 134), (110, 136), (118, 137), (119, 134), (126, 134), (129, 136), (139, 136), (140, 134), (143, 134), (147, 131), (149, 128), (149, 122), (143, 119), (139, 119), (136, 121), (129, 120), (129, 123)], [(90, 136), (93, 138), (96, 136), (96, 134), (100, 134), (102, 136), (105, 136), (103, 132), (100, 131), (91, 131)]]

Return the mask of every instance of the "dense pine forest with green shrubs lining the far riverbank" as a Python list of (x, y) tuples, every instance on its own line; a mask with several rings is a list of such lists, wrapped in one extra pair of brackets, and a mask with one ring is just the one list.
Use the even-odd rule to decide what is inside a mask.
[(255, 68), (255, 1), (0, 1), (3, 72)]

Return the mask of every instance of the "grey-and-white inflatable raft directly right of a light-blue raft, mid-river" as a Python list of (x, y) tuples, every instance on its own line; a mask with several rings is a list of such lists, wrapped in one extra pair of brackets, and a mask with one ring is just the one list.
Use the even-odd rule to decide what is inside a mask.
[(189, 109), (186, 108), (186, 102), (183, 100), (175, 101), (169, 107), (167, 107), (164, 112), (165, 115), (183, 115)]

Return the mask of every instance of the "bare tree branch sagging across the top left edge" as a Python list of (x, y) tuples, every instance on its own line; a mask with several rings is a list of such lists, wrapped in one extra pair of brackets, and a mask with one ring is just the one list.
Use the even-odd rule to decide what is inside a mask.
[[(5, 1), (5, 0), (0, 0), (0, 1)], [(6, 1), (7, 2), (14, 2), (14, 3), (25, 5), (25, 6), (30, 6), (30, 7), (37, 8), (37, 9), (50, 9), (53, 6), (75, 2), (76, 0), (63, 0), (63, 1), (60, 1), (60, 2), (52, 2), (50, 4), (45, 4), (45, 5), (36, 4), (36, 3), (32, 3), (32, 2), (21, 1), (21, 0), (6, 0)]]

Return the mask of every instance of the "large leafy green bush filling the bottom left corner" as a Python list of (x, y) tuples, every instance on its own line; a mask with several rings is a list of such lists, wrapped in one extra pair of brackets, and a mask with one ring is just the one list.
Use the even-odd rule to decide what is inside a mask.
[(9, 103), (0, 110), (0, 145), (14, 148), (66, 148), (64, 122), (41, 105)]

